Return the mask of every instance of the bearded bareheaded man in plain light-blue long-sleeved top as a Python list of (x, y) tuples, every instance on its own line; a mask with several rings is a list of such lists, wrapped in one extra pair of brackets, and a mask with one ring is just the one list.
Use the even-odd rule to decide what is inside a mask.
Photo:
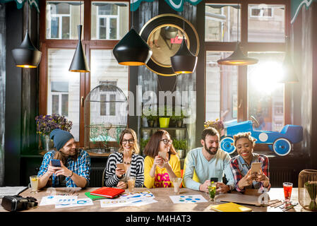
[[(191, 150), (185, 159), (183, 184), (189, 189), (208, 192), (210, 178), (217, 179), (217, 192), (234, 189), (234, 177), (230, 169), (229, 153), (219, 148), (219, 133), (208, 127), (201, 134), (201, 148)], [(226, 177), (227, 184), (222, 182)]]

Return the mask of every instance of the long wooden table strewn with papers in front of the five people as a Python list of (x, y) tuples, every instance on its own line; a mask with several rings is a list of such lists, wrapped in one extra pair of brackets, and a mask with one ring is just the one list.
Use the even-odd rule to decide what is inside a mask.
[[(68, 194), (69, 191), (75, 191), (78, 194), (78, 198), (87, 198), (85, 196), (85, 192), (93, 191), (97, 188), (88, 188), (88, 189), (78, 189), (78, 188), (56, 188), (57, 194)], [(25, 210), (25, 212), (213, 212), (210, 210), (208, 206), (210, 204), (217, 204), (219, 202), (205, 202), (205, 203), (181, 203), (176, 204), (173, 203), (169, 196), (174, 196), (174, 189), (136, 189), (136, 191), (146, 191), (150, 190), (152, 194), (155, 196), (155, 200), (157, 203), (151, 203), (145, 206), (121, 206), (115, 208), (101, 208), (100, 201), (93, 201), (93, 206), (82, 206), (82, 207), (73, 207), (73, 208), (55, 208), (54, 206), (37, 206), (35, 208), (31, 208), (29, 210)], [(201, 194), (206, 200), (208, 200), (208, 194), (201, 191), (194, 191), (191, 189), (181, 188), (180, 195), (196, 195)], [(270, 189), (268, 192), (270, 200), (284, 198), (283, 189)], [(23, 191), (20, 196), (27, 197), (32, 196), (37, 198), (37, 201), (40, 203), (42, 197), (49, 196), (46, 189), (41, 190), (37, 194), (30, 194), (30, 190), (27, 189)], [(298, 189), (294, 188), (292, 191), (292, 201), (298, 203)], [(217, 196), (216, 196), (217, 201)], [(271, 208), (271, 207), (261, 207), (261, 206), (253, 206), (253, 205), (245, 205), (249, 208), (252, 208), (253, 212), (282, 212), (280, 208)], [(306, 211), (304, 208), (301, 208), (300, 205), (297, 205), (295, 208), (288, 210), (288, 212), (301, 212)], [(0, 206), (0, 212), (6, 212), (2, 206)]]

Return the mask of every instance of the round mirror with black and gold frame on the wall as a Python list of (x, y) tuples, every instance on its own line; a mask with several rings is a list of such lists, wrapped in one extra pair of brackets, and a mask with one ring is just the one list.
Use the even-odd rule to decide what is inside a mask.
[[(184, 35), (185, 28), (185, 35)], [(152, 49), (152, 57), (146, 66), (161, 76), (174, 76), (170, 57), (174, 56), (181, 46), (182, 40), (189, 50), (198, 55), (198, 34), (193, 25), (175, 14), (161, 14), (145, 23), (140, 36)]]

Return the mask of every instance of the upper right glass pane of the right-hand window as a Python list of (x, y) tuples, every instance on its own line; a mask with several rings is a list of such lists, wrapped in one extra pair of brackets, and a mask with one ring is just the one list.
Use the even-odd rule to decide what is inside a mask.
[(285, 42), (285, 5), (249, 4), (249, 42)]

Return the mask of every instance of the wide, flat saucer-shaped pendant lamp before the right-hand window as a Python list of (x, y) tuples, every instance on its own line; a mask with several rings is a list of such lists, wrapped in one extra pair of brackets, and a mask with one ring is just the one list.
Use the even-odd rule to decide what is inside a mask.
[(225, 59), (220, 59), (217, 61), (218, 64), (222, 65), (232, 65), (232, 66), (242, 66), (242, 65), (250, 65), (258, 63), (258, 59), (246, 57), (244, 53), (241, 51), (239, 44), (239, 4), (238, 4), (238, 22), (237, 22), (237, 45), (234, 52)]

